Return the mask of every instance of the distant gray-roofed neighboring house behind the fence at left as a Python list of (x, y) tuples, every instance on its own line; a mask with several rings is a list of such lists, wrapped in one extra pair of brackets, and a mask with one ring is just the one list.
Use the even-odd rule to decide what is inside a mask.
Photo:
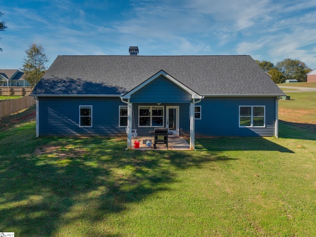
[(30, 86), (18, 69), (0, 69), (0, 86)]

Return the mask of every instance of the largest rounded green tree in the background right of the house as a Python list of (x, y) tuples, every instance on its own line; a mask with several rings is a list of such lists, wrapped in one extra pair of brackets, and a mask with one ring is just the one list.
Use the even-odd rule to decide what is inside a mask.
[(306, 74), (311, 71), (304, 62), (290, 58), (278, 62), (276, 68), (283, 73), (285, 79), (296, 79), (298, 81), (307, 81)]

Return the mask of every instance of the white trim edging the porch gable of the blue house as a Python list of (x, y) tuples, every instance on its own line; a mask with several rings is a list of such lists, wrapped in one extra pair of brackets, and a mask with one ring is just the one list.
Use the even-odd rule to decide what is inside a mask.
[(145, 80), (143, 83), (139, 84), (138, 86), (136, 86), (134, 89), (130, 90), (129, 92), (127, 92), (126, 94), (124, 94), (122, 97), (123, 99), (130, 99), (130, 96), (132, 94), (134, 94), (136, 91), (138, 91), (139, 89), (143, 88), (144, 86), (148, 85), (150, 82), (152, 82), (153, 80), (157, 79), (159, 76), (164, 76), (166, 79), (169, 79), (170, 81), (172, 81), (173, 83), (175, 83), (176, 85), (178, 85), (180, 88), (182, 88), (183, 90), (187, 91), (189, 94), (192, 95), (192, 99), (200, 99), (202, 96), (200, 96), (199, 94), (197, 94), (195, 91), (191, 90), (189, 87), (185, 86), (184, 84), (182, 84), (180, 81), (178, 81), (177, 79), (174, 79), (173, 77), (171, 77), (170, 75), (168, 75), (166, 72), (164, 72), (163, 70), (160, 70), (158, 73), (156, 73), (154, 76), (150, 77), (149, 79)]

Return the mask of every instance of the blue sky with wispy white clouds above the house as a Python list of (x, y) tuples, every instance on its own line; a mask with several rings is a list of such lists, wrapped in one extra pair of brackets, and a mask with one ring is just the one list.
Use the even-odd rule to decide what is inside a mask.
[(0, 0), (0, 69), (57, 55), (251, 55), (316, 68), (316, 0)]

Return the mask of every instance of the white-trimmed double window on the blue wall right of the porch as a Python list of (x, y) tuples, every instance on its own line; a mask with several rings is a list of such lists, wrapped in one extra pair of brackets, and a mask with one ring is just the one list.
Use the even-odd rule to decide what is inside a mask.
[(265, 106), (239, 106), (239, 127), (265, 127)]

